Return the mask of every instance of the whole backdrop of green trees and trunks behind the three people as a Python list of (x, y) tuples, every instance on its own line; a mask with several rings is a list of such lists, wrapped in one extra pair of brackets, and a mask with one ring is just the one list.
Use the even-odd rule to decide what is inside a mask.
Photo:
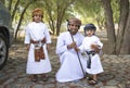
[[(66, 20), (76, 16), (87, 23), (94, 23), (99, 32), (106, 32), (104, 41), (108, 54), (130, 54), (130, 0), (0, 0), (12, 17), (14, 39), (31, 22), (31, 11), (41, 8), (43, 22), (52, 36), (66, 29)], [(101, 34), (104, 35), (105, 33)]]

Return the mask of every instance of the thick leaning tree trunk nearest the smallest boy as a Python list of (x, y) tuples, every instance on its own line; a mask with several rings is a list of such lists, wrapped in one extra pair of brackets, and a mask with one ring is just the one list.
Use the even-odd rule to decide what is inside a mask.
[(110, 0), (102, 0), (104, 11), (105, 11), (105, 20), (106, 20), (106, 28), (107, 28), (107, 38), (108, 38), (108, 52), (115, 53), (115, 28), (114, 28), (114, 21), (113, 21), (113, 11), (110, 7)]

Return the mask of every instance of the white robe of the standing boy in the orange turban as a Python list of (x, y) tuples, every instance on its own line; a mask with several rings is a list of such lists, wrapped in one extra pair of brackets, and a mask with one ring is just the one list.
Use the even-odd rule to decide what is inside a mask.
[[(42, 22), (40, 23), (29, 23), (26, 27), (26, 35), (25, 35), (25, 43), (30, 43), (30, 39), (32, 40), (42, 40), (46, 37), (47, 43), (51, 43), (50, 34), (48, 27)], [(40, 62), (35, 62), (35, 46), (30, 43), (30, 49), (28, 52), (28, 60), (27, 60), (27, 74), (43, 74), (51, 72), (51, 63), (48, 55), (47, 45), (43, 45), (44, 50), (44, 60), (40, 60)]]

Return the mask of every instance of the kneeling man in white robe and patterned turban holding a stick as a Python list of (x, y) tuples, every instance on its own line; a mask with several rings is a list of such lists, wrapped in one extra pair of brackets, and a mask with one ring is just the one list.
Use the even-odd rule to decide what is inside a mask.
[(78, 32), (81, 21), (68, 20), (68, 32), (62, 33), (57, 38), (56, 54), (60, 56), (61, 67), (55, 77), (60, 83), (74, 81), (84, 77), (86, 61), (81, 53), (75, 49), (82, 42), (83, 36)]

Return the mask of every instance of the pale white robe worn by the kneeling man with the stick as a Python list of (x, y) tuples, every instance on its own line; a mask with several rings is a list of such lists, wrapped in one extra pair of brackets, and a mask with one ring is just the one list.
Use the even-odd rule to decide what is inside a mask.
[[(79, 47), (82, 42), (83, 36), (80, 33), (77, 33), (73, 36), (77, 46)], [(56, 43), (56, 54), (60, 56), (61, 67), (57, 71), (55, 77), (60, 83), (73, 81), (83, 78), (83, 73), (78, 60), (81, 61), (83, 72), (86, 70), (86, 61), (82, 59), (81, 53), (77, 52), (74, 49), (67, 49), (67, 45), (72, 43), (73, 39), (69, 32), (63, 33), (57, 38)]]

